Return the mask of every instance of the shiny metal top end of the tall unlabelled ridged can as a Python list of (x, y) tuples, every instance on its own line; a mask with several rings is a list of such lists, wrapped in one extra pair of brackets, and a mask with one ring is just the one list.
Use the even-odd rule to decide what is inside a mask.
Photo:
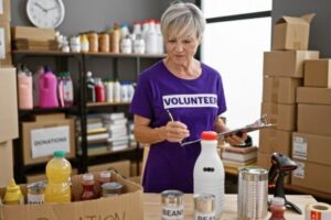
[(248, 166), (239, 168), (239, 176), (248, 182), (261, 182), (268, 179), (268, 170), (257, 166)]

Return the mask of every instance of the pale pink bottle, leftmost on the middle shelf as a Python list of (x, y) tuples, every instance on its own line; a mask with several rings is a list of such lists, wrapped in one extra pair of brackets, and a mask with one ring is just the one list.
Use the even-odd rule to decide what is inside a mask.
[(33, 109), (32, 74), (24, 66), (18, 67), (19, 108)]

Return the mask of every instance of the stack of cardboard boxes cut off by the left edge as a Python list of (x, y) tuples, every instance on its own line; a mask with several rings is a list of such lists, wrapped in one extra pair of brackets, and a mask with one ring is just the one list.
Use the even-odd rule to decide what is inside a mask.
[(4, 186), (13, 177), (12, 140), (18, 138), (18, 100), (10, 54), (10, 0), (0, 4), (0, 186)]

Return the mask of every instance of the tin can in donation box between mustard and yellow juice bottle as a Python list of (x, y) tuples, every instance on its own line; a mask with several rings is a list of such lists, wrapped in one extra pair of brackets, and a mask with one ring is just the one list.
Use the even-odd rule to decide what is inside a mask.
[(45, 202), (45, 182), (36, 182), (28, 185), (28, 204)]

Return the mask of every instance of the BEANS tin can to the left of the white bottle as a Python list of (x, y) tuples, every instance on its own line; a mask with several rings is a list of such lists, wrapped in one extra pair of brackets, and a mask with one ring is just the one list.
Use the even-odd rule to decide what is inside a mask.
[(183, 193), (180, 190), (164, 190), (161, 193), (161, 219), (183, 220)]

